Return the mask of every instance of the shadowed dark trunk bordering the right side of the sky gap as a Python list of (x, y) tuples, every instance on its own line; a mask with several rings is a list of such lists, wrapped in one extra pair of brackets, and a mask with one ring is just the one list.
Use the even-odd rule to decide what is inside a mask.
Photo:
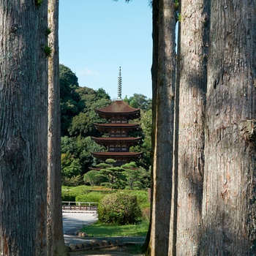
[(172, 196), (176, 77), (174, 1), (154, 0), (153, 14), (153, 194), (151, 238), (147, 255), (161, 256), (168, 254)]

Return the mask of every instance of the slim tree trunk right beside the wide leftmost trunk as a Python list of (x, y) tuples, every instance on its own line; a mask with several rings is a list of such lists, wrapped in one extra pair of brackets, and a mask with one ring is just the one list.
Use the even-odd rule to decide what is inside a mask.
[(67, 255), (61, 212), (59, 0), (48, 0), (48, 255)]

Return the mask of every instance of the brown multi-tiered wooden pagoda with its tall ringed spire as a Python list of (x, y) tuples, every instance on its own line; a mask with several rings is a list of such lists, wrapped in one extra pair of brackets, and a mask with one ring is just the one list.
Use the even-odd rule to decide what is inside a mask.
[(104, 108), (97, 108), (96, 113), (108, 120), (106, 124), (94, 124), (99, 132), (105, 132), (108, 137), (91, 137), (96, 143), (106, 146), (108, 151), (92, 152), (97, 159), (115, 159), (116, 165), (121, 166), (141, 156), (141, 152), (130, 152), (129, 148), (141, 142), (141, 138), (129, 137), (129, 132), (140, 129), (138, 124), (130, 124), (129, 120), (140, 117), (140, 110), (132, 108), (121, 99), (121, 67), (118, 77), (118, 97), (116, 101)]

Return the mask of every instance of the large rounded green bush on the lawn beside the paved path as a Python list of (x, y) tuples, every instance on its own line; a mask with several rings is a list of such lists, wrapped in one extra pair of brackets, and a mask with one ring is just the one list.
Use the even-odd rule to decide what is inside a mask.
[(123, 192), (103, 197), (99, 203), (98, 214), (100, 222), (118, 225), (136, 224), (142, 217), (137, 197)]

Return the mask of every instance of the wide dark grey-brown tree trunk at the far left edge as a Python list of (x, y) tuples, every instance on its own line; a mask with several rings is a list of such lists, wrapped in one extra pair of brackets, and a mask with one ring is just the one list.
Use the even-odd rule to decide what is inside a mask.
[(46, 255), (47, 1), (0, 0), (0, 254)]

